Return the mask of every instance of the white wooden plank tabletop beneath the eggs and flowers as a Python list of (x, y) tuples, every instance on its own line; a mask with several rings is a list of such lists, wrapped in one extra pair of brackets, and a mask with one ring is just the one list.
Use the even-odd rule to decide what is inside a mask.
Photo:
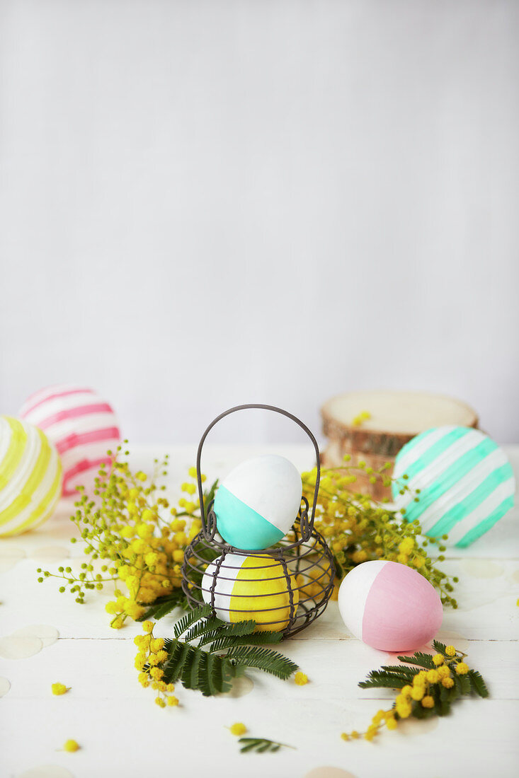
[[(175, 492), (193, 464), (194, 446), (139, 447), (132, 464), (149, 470), (154, 456), (166, 450), (171, 455), (168, 491)], [(207, 447), (203, 469), (209, 478), (221, 476), (266, 450), (290, 457), (300, 468), (312, 463), (306, 446), (218, 446)], [(519, 447), (507, 451), (517, 474)], [(0, 656), (2, 776), (507, 778), (519, 773), (519, 510), (470, 548), (448, 552), (443, 562), (460, 577), (460, 608), (445, 610), (438, 637), (468, 653), (468, 663), (489, 684), (490, 698), (464, 700), (450, 717), (408, 721), (369, 743), (344, 742), (340, 735), (365, 729), (392, 696), (357, 685), (369, 670), (387, 664), (388, 655), (349, 636), (334, 602), (309, 629), (282, 644), (309, 676), (308, 685), (251, 672), (253, 688), (242, 688), (241, 696), (206, 699), (178, 685), (181, 706), (159, 709), (154, 692), (139, 685), (133, 668), (133, 637), (140, 626), (111, 629), (106, 592), (90, 593), (86, 605), (77, 605), (71, 595), (58, 593), (57, 581), (37, 583), (38, 566), (79, 565), (79, 559), (67, 559), (71, 552), (80, 555), (79, 544), (68, 542), (75, 530), (68, 520), (71, 505), (62, 503), (37, 531), (0, 541), (0, 654), (32, 652), (19, 659)], [(168, 634), (174, 620), (163, 619), (157, 633)], [(4, 640), (18, 630), (24, 640)], [(52, 696), (53, 682), (72, 690)], [(237, 738), (225, 728), (235, 721), (244, 722), (249, 734), (297, 750), (240, 754)], [(68, 738), (81, 750), (60, 751)]]

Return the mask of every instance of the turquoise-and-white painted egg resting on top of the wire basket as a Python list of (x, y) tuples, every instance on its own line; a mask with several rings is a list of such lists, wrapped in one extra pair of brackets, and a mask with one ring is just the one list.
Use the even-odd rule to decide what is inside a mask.
[(213, 510), (218, 531), (235, 548), (269, 548), (294, 524), (301, 496), (301, 475), (291, 461), (274, 454), (248, 459), (217, 491)]

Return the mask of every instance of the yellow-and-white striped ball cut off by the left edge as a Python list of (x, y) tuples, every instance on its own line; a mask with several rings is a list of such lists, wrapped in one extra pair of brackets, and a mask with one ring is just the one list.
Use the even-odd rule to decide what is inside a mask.
[(0, 536), (42, 524), (61, 494), (62, 463), (45, 433), (0, 416)]

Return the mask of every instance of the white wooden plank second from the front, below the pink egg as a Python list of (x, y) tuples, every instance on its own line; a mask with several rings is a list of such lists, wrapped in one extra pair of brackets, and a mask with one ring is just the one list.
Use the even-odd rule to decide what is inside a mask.
[[(157, 635), (161, 634), (165, 634), (165, 630), (157, 627)], [(458, 643), (457, 647), (468, 653), (469, 666), (482, 673), (493, 700), (519, 698), (517, 643), (478, 640)], [(259, 705), (267, 704), (268, 699), (276, 696), (295, 702), (302, 699), (348, 699), (352, 702), (394, 698), (390, 690), (360, 689), (358, 682), (364, 680), (370, 670), (383, 664), (400, 664), (396, 654), (376, 651), (355, 639), (320, 643), (285, 640), (278, 650), (299, 664), (309, 676), (309, 683), (298, 686), (293, 680), (282, 682), (273, 676), (249, 671)], [(73, 681), (74, 694), (67, 699), (95, 699), (102, 687), (103, 696), (142, 699), (144, 702), (153, 695), (137, 682), (137, 672), (133, 668), (136, 651), (131, 639), (60, 638), (58, 643), (30, 659), (0, 659), (0, 675), (11, 682), (9, 699), (37, 697), (52, 701), (51, 683), (62, 682), (69, 686)], [(196, 696), (195, 692), (178, 686), (178, 698), (186, 704)]]

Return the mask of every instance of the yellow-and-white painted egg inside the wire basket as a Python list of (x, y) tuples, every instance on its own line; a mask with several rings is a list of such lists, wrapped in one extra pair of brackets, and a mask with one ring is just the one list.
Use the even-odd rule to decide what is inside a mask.
[[(211, 604), (219, 619), (235, 624), (254, 619), (257, 632), (281, 632), (298, 606), (299, 592), (294, 576), (271, 556), (226, 554), (207, 566), (202, 579), (203, 601)], [(221, 561), (221, 565), (219, 566)]]

